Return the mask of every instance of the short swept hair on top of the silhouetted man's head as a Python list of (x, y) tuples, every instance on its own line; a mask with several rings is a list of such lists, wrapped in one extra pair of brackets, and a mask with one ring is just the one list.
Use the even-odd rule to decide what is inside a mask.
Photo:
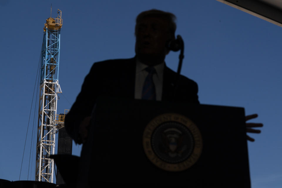
[(175, 24), (176, 16), (170, 12), (164, 12), (164, 11), (160, 11), (157, 9), (143, 11), (140, 14), (138, 14), (138, 16), (136, 17), (135, 35), (136, 35), (137, 24), (142, 19), (147, 18), (147, 17), (157, 17), (157, 18), (161, 18), (164, 21), (166, 21), (169, 25), (169, 32), (171, 33), (171, 35), (174, 38), (174, 33), (176, 30), (176, 24)]

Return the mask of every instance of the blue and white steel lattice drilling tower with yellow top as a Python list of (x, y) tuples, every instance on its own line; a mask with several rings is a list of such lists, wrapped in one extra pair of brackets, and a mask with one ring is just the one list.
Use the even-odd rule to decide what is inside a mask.
[(60, 31), (63, 25), (62, 11), (57, 18), (48, 18), (43, 28), (43, 43), (40, 65), (40, 97), (38, 109), (38, 129), (36, 143), (36, 171), (38, 181), (53, 183), (55, 153), (55, 133), (59, 128), (55, 121), (57, 93), (61, 93), (58, 82), (60, 57)]

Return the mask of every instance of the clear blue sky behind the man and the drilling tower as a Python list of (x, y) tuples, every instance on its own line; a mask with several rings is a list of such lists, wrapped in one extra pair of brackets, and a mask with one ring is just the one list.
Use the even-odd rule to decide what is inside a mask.
[[(200, 103), (239, 106), (246, 115), (259, 114), (253, 122), (264, 124), (262, 133), (250, 134), (256, 141), (248, 142), (252, 187), (281, 187), (282, 28), (215, 0), (1, 0), (0, 179), (19, 180), (43, 24), (51, 3), (53, 17), (57, 8), (62, 11), (59, 83), (71, 104), (93, 62), (135, 55), (138, 13), (152, 8), (174, 13), (176, 34), (185, 42), (182, 74), (198, 83)], [(171, 52), (165, 61), (176, 70), (178, 53)], [(59, 97), (58, 114), (71, 107)], [(21, 180), (28, 177), (32, 123), (33, 112)], [(31, 149), (28, 179), (34, 179), (35, 143)], [(80, 149), (74, 146), (73, 154), (80, 155)]]

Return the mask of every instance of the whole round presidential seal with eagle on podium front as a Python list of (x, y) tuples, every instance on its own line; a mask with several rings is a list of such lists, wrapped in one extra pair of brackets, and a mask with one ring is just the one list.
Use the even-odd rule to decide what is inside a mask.
[(199, 159), (202, 135), (187, 117), (175, 113), (152, 119), (143, 133), (143, 148), (157, 167), (171, 172), (188, 169)]

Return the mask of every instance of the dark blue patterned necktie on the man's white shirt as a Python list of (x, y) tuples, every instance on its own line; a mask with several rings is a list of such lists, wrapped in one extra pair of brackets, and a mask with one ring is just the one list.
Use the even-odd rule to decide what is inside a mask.
[(142, 99), (156, 100), (156, 88), (153, 81), (153, 75), (156, 73), (156, 70), (154, 67), (147, 67), (145, 70), (148, 72), (148, 75), (143, 85)]

